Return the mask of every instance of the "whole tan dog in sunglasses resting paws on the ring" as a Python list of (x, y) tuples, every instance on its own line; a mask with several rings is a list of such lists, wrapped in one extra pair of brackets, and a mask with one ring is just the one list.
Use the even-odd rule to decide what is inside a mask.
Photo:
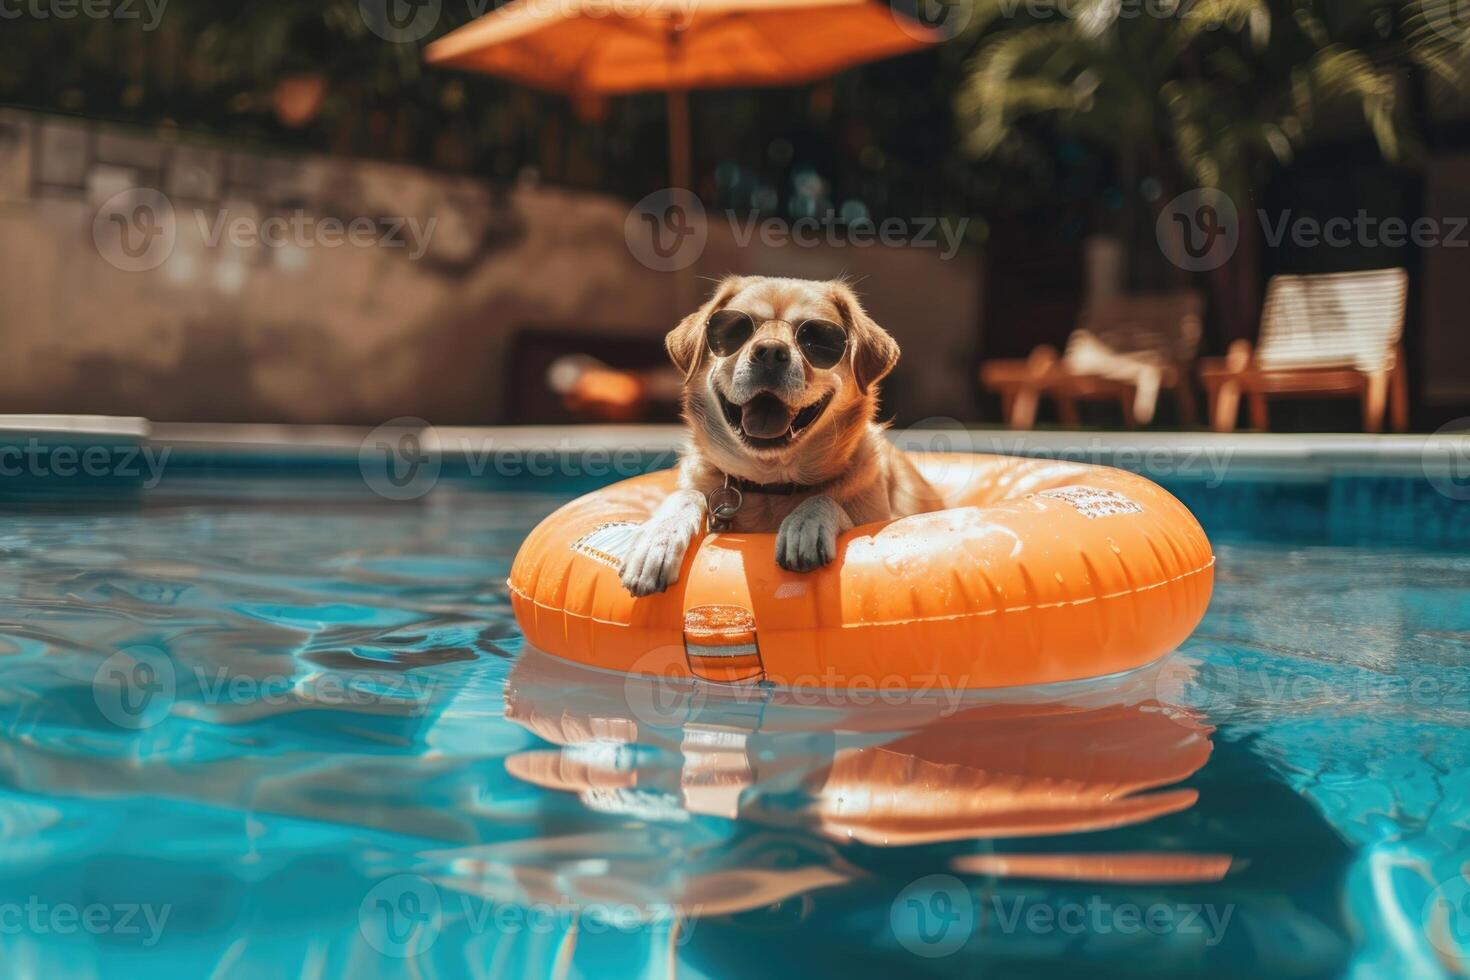
[(735, 532), (776, 532), (776, 563), (810, 572), (836, 536), (944, 501), (873, 422), (875, 385), (898, 344), (844, 282), (732, 276), (666, 339), (684, 373), (691, 441), (679, 489), (634, 536), (622, 567), (634, 595), (679, 580), (706, 529), (710, 494)]

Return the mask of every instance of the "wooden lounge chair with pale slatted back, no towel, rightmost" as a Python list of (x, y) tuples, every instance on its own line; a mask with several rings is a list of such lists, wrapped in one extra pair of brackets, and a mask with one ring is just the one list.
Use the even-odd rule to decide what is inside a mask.
[(1251, 426), (1267, 429), (1267, 398), (1351, 395), (1363, 400), (1363, 428), (1408, 428), (1404, 375), (1404, 269), (1320, 276), (1274, 276), (1266, 287), (1260, 347), (1235, 341), (1223, 359), (1200, 364), (1216, 432), (1235, 429), (1241, 395)]

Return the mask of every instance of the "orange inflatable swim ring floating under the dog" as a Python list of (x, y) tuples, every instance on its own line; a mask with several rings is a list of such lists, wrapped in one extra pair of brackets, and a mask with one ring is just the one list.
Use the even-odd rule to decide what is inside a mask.
[(785, 572), (773, 533), (709, 533), (679, 582), (632, 598), (619, 548), (675, 488), (650, 473), (566, 504), (510, 569), (526, 641), (609, 670), (910, 691), (1079, 680), (1141, 667), (1204, 616), (1214, 555), (1155, 483), (1104, 466), (914, 454), (950, 510), (854, 527)]

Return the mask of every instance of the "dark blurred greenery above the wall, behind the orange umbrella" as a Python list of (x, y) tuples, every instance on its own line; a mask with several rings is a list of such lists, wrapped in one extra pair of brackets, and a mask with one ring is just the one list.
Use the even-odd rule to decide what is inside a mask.
[[(791, 216), (979, 215), (982, 239), (989, 212), (1091, 201), (1089, 223), (1147, 238), (1172, 194), (1244, 200), (1314, 131), (1351, 135), (1345, 110), (1386, 160), (1411, 163), (1423, 76), (1457, 79), (1470, 48), (1457, 3), (948, 0), (969, 28), (932, 51), (697, 94), (695, 190)], [(428, 37), (398, 44), (357, 0), (12, 19), (0, 101), (500, 181), (657, 185), (657, 96), (569, 101), (428, 69), (422, 46), (476, 13), (440, 6)]]

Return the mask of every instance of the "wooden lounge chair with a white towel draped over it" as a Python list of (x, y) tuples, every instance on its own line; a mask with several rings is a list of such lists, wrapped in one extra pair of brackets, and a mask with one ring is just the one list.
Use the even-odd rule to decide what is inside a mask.
[(1116, 400), (1129, 428), (1148, 425), (1161, 388), (1172, 389), (1179, 419), (1194, 425), (1189, 364), (1200, 347), (1204, 300), (1195, 292), (1120, 295), (1089, 304), (1061, 357), (1041, 345), (1026, 360), (980, 366), (980, 382), (1001, 397), (1005, 423), (1029, 429), (1042, 395), (1057, 403), (1063, 425), (1076, 426), (1078, 401)]

